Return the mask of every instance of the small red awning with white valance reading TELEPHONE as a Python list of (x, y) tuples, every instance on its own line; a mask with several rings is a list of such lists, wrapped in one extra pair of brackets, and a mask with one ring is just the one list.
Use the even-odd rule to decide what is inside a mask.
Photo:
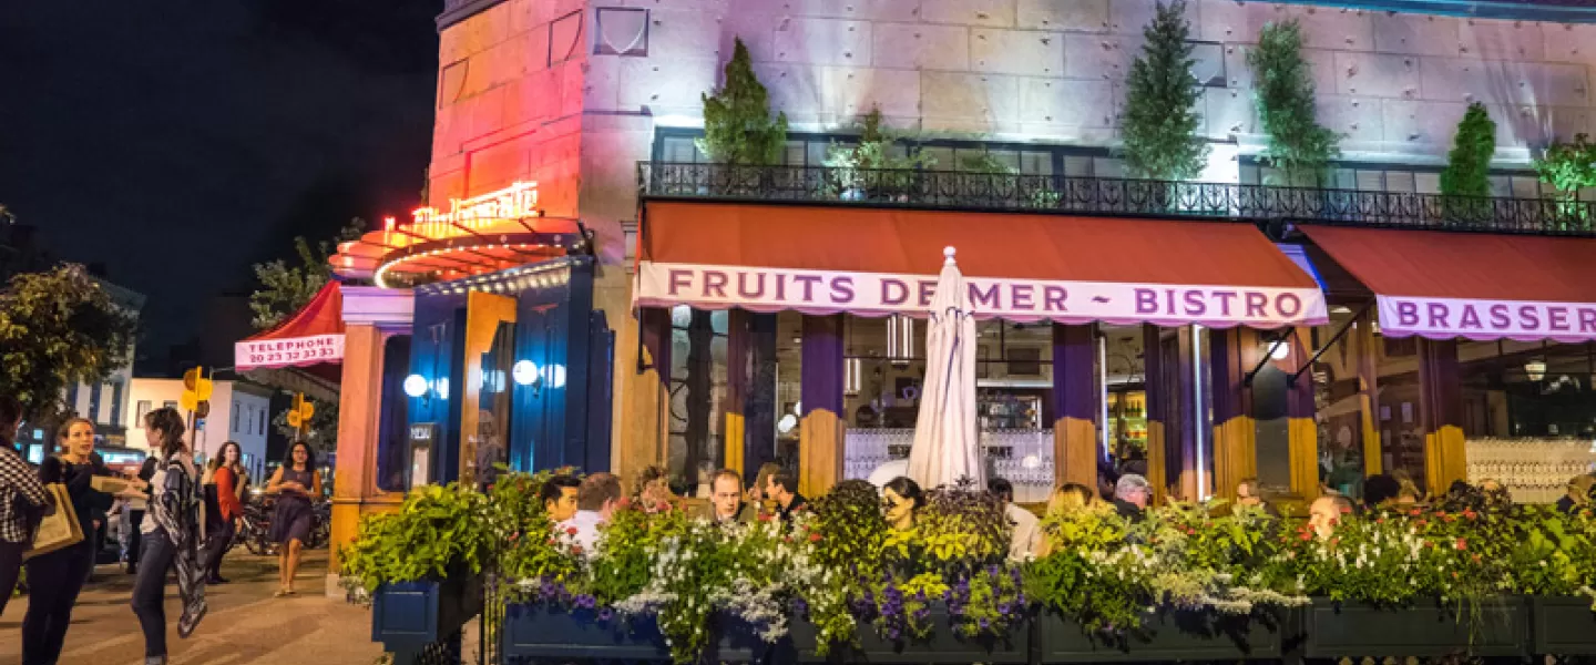
[(233, 344), (238, 372), (343, 362), (343, 292), (327, 282), (276, 327)]

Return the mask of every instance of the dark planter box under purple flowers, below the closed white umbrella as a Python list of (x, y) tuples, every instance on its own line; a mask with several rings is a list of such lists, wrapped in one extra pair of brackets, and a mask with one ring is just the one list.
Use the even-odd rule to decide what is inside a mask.
[(948, 608), (930, 603), (932, 625), (926, 639), (887, 639), (875, 627), (860, 624), (859, 646), (836, 644), (830, 660), (844, 663), (1028, 663), (1031, 620), (1021, 619), (1001, 638), (964, 638), (953, 630)]

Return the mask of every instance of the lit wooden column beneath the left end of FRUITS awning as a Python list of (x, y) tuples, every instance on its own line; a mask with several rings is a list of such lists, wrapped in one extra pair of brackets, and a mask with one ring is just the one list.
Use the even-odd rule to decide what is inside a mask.
[(670, 399), (670, 309), (643, 308), (630, 321), (635, 343), (626, 346), (621, 356), (616, 344), (616, 364), (634, 370), (626, 372), (626, 394), (619, 403), (626, 410), (621, 423), (621, 454), (614, 469), (627, 483), (637, 488), (637, 478), (650, 464), (666, 459), (669, 399)]

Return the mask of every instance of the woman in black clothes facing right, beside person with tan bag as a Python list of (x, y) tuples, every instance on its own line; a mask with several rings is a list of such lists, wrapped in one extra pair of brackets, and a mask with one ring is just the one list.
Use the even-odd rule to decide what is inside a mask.
[(29, 600), (22, 619), (22, 665), (54, 665), (61, 659), (67, 628), (72, 625), (72, 608), (78, 593), (94, 569), (99, 544), (91, 536), (96, 515), (110, 509), (117, 494), (94, 488), (94, 477), (110, 477), (110, 470), (94, 454), (94, 424), (85, 418), (70, 418), (56, 432), (61, 454), (53, 454), (38, 466), (38, 480), (45, 485), (62, 485), (72, 499), (72, 510), (83, 528), (83, 541), (75, 545), (34, 557), (27, 561)]

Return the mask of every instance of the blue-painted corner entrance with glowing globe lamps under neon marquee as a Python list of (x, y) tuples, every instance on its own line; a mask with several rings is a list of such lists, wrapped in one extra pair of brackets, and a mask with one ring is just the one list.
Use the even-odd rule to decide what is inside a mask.
[[(421, 397), (404, 391), (389, 395), (409, 400), (412, 445), (417, 439), (429, 443), (429, 482), (461, 475), (461, 402), (464, 381), (472, 380), (466, 376), (466, 300), (472, 290), (516, 298), (516, 322), (500, 324), (504, 341), (482, 356), (488, 370), (474, 378), (482, 381), (484, 400), (508, 392), (509, 423), (500, 426), (508, 431), (509, 467), (610, 469), (614, 333), (594, 309), (592, 285), (592, 257), (568, 257), (415, 289), (409, 380), (420, 376), (426, 389)], [(512, 372), (517, 364), (535, 372)]]

